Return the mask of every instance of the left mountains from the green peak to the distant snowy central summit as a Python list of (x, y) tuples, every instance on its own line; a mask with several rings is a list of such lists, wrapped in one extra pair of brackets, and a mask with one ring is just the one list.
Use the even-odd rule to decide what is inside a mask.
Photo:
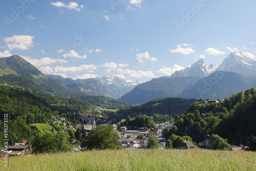
[(126, 82), (115, 76), (77, 79), (46, 75), (18, 55), (0, 58), (0, 78), (14, 86), (63, 97), (106, 96), (119, 98), (138, 83)]

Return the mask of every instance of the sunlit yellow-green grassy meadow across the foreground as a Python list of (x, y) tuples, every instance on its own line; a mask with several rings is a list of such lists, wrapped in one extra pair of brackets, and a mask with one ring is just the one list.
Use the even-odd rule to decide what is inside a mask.
[[(3, 158), (2, 158), (3, 160)], [(256, 170), (255, 152), (147, 149), (10, 157), (0, 170)]]

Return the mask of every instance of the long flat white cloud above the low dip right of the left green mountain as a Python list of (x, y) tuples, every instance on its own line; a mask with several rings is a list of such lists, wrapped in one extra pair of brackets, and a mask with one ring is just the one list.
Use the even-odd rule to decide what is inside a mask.
[(97, 70), (97, 66), (90, 64), (90, 65), (81, 65), (79, 67), (62, 67), (62, 66), (56, 66), (54, 68), (54, 72), (77, 72), (77, 71), (82, 71), (82, 70)]

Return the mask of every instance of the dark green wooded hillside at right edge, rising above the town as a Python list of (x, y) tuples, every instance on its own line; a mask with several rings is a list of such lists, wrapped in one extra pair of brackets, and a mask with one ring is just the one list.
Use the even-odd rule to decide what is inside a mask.
[(206, 99), (200, 99), (177, 117), (175, 129), (165, 135), (189, 136), (198, 143), (208, 132), (227, 139), (230, 144), (246, 144), (251, 135), (256, 135), (255, 92), (254, 88), (239, 92), (226, 97), (224, 103), (205, 104)]

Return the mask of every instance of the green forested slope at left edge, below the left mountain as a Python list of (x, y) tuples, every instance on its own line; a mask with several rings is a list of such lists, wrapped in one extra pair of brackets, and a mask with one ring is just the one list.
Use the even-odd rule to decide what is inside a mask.
[[(48, 123), (53, 116), (59, 116), (76, 125), (79, 123), (79, 115), (71, 112), (87, 112), (92, 108), (91, 104), (72, 98), (47, 96), (23, 88), (0, 86), (0, 119), (3, 121), (4, 114), (8, 114), (9, 145), (24, 139), (32, 140), (39, 133), (35, 126), (30, 125), (32, 123)], [(0, 145), (5, 139), (2, 121)]]

